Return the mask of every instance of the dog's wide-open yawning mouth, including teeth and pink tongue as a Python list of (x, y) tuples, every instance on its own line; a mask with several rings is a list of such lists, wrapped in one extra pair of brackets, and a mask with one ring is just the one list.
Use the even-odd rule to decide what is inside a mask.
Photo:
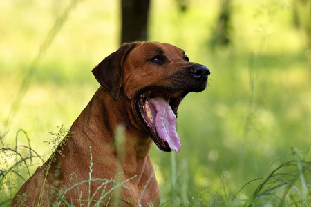
[(140, 118), (160, 150), (180, 150), (176, 118), (180, 101), (186, 94), (184, 90), (152, 89), (139, 93), (136, 99)]

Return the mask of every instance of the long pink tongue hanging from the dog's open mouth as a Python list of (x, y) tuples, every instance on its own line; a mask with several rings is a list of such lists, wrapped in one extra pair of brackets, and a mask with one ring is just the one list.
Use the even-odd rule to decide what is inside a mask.
[(176, 132), (176, 115), (171, 110), (171, 106), (160, 97), (149, 99), (148, 102), (156, 109), (156, 130), (159, 137), (169, 144), (171, 150), (179, 152), (180, 137)]

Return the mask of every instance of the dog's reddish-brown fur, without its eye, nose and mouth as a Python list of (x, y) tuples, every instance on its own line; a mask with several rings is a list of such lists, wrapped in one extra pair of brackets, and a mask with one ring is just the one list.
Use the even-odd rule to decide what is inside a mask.
[[(169, 61), (162, 69), (156, 64), (153, 66), (146, 63), (158, 48), (164, 51)], [(176, 80), (178, 77), (188, 76), (187, 67), (194, 64), (185, 61), (183, 54), (182, 50), (169, 44), (135, 42), (124, 44), (117, 52), (106, 57), (93, 70), (101, 87), (77, 117), (70, 133), (53, 156), (23, 184), (12, 200), (12, 205), (47, 206), (47, 202), (53, 204), (57, 201), (57, 193), (62, 195), (70, 186), (89, 179), (92, 153), (92, 179), (125, 181), (135, 176), (124, 183), (128, 189), (119, 188), (119, 195), (117, 190), (114, 190), (103, 202), (108, 202), (108, 198), (111, 197), (109, 204), (113, 204), (118, 201), (113, 199), (117, 196), (136, 206), (144, 186), (150, 179), (140, 204), (159, 206), (160, 190), (149, 159), (153, 140), (149, 137), (146, 126), (138, 118), (134, 103), (135, 94), (149, 86), (178, 88), (180, 83)], [(124, 146), (121, 146), (123, 151), (120, 151), (115, 140), (117, 126), (124, 126)], [(88, 190), (92, 196), (102, 182), (91, 181), (90, 189), (88, 182), (75, 186), (66, 193), (66, 201), (79, 206), (78, 198), (81, 192), (81, 202), (87, 204)], [(108, 184), (106, 191), (112, 187), (113, 184)], [(102, 191), (97, 192), (91, 206), (100, 198), (101, 193)], [(119, 205), (127, 206), (123, 201), (119, 201)]]

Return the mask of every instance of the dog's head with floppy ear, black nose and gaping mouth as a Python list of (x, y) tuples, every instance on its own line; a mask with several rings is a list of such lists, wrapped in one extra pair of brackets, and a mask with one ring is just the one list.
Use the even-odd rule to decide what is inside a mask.
[(180, 101), (189, 92), (207, 86), (209, 69), (189, 61), (176, 46), (158, 42), (125, 43), (92, 70), (114, 100), (130, 100), (136, 121), (158, 148), (180, 150), (176, 117)]

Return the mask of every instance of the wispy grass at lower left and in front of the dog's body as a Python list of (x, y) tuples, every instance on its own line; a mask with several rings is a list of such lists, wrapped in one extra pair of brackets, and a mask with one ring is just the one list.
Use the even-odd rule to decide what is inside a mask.
[[(19, 139), (18, 135), (20, 132), (23, 132), (23, 134), (26, 135), (27, 140), (28, 140), (28, 146), (21, 146), (17, 144), (17, 141)], [(46, 177), (49, 174), (50, 164), (52, 163), (52, 161), (55, 161), (55, 158), (54, 158), (55, 154), (58, 153), (60, 155), (63, 155), (62, 146), (65, 144), (68, 136), (70, 136), (70, 132), (68, 130), (65, 130), (64, 126), (60, 126), (58, 132), (56, 133), (50, 132), (50, 134), (53, 135), (53, 138), (50, 139), (50, 141), (48, 141), (48, 144), (52, 146), (53, 152), (51, 155), (52, 158), (50, 159), (50, 162), (45, 169)], [(120, 136), (122, 135), (119, 135), (117, 139), (121, 139)], [(59, 147), (57, 148), (57, 146)], [(26, 149), (27, 152), (26, 151), (19, 152), (19, 150), (21, 149)], [(38, 186), (38, 188), (41, 188), (41, 193), (43, 193), (44, 190), (48, 190), (49, 193), (53, 193), (54, 195), (57, 196), (58, 199), (54, 203), (51, 204), (48, 201), (48, 204), (50, 204), (51, 206), (63, 206), (63, 205), (71, 206), (70, 201), (68, 201), (68, 199), (65, 199), (65, 196), (68, 196), (68, 192), (72, 190), (73, 188), (77, 188), (79, 192), (79, 186), (85, 183), (88, 183), (88, 199), (87, 199), (88, 206), (91, 206), (91, 205), (102, 206), (102, 203), (111, 204), (112, 198), (115, 199), (115, 201), (118, 201), (118, 203), (115, 204), (115, 206), (119, 206), (118, 204), (122, 204), (122, 203), (129, 204), (124, 199), (121, 199), (120, 197), (118, 197), (117, 193), (114, 196), (112, 193), (118, 192), (120, 188), (126, 188), (124, 184), (126, 184), (126, 182), (133, 179), (135, 176), (129, 179), (126, 179), (125, 181), (118, 181), (120, 175), (122, 174), (122, 172), (119, 172), (118, 175), (115, 176), (116, 181), (113, 179), (93, 178), (92, 177), (93, 155), (92, 155), (91, 146), (89, 150), (90, 150), (91, 159), (90, 159), (90, 167), (89, 167), (89, 172), (88, 172), (88, 175), (89, 175), (88, 180), (78, 182), (77, 175), (73, 173), (73, 175), (70, 175), (70, 181), (74, 180), (73, 181), (74, 184), (67, 189), (62, 189), (61, 191), (55, 191), (53, 188), (46, 188), (46, 184), (45, 184), (46, 177), (44, 179), (44, 183), (42, 184), (42, 186)], [(28, 179), (31, 176), (30, 167), (34, 165), (35, 166), (38, 165), (38, 163), (35, 164), (35, 159), (39, 160), (39, 164), (43, 164), (44, 161), (37, 154), (37, 152), (35, 152), (35, 150), (32, 150), (28, 136), (26, 132), (24, 132), (23, 130), (19, 130), (17, 132), (15, 148), (10, 148), (10, 147), (1, 148), (0, 155), (1, 155), (1, 158), (3, 159), (3, 162), (1, 162), (1, 165), (6, 166), (6, 170), (4, 171), (1, 170), (1, 183), (0, 183), (0, 187), (1, 187), (0, 201), (1, 202), (0, 202), (0, 205), (9, 206), (10, 200), (12, 199), (12, 195), (15, 193), (17, 189), (21, 187), (21, 182), (23, 183), (24, 181), (26, 181), (26, 179)], [(8, 163), (9, 157), (13, 158), (14, 161), (11, 163)], [(100, 181), (102, 182), (102, 184), (100, 184), (100, 186), (98, 186), (98, 188), (94, 192), (91, 193), (91, 182), (93, 181), (96, 181), (96, 182)], [(57, 182), (57, 180), (55, 180), (55, 182)], [(144, 186), (144, 188), (146, 188), (148, 184), (149, 184), (149, 181), (147, 181), (147, 184), (146, 186)], [(112, 185), (112, 187), (108, 189), (107, 188), (108, 185)], [(144, 193), (144, 190), (142, 194), (143, 193)], [(97, 200), (94, 200), (95, 195), (100, 195), (100, 198)], [(26, 206), (26, 204), (24, 204), (23, 202), (26, 201), (27, 197), (28, 197), (27, 194), (20, 195), (17, 206)], [(70, 197), (70, 199), (77, 199), (79, 202), (79, 206), (83, 206), (82, 203), (84, 203), (84, 201), (82, 201), (81, 193), (79, 193), (78, 198)], [(43, 199), (41, 199), (41, 194), (40, 194), (39, 202), (37, 206), (43, 206), (42, 201)], [(131, 204), (129, 204), (129, 206), (131, 206)]]

